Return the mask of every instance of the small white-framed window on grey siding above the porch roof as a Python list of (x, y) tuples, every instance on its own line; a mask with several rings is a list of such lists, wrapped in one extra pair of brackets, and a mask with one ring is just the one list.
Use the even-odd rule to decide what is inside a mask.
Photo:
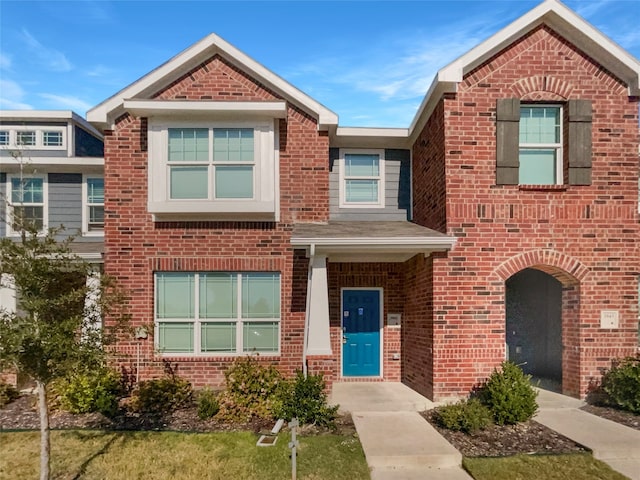
[(384, 150), (340, 151), (340, 206), (384, 207)]

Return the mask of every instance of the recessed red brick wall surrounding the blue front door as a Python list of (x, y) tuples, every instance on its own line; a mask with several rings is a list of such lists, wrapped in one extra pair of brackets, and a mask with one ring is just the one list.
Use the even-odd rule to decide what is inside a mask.
[[(398, 382), (401, 378), (401, 357), (394, 359), (394, 353), (401, 354), (401, 328), (387, 325), (388, 313), (403, 313), (404, 309), (404, 268), (401, 263), (328, 263), (327, 282), (329, 284), (329, 318), (331, 319), (331, 349), (335, 359), (335, 377), (342, 376), (341, 341), (342, 312), (341, 296), (343, 288), (383, 289), (383, 345), (381, 355), (382, 379)], [(359, 378), (345, 378), (361, 381)], [(371, 379), (366, 379), (367, 381)]]

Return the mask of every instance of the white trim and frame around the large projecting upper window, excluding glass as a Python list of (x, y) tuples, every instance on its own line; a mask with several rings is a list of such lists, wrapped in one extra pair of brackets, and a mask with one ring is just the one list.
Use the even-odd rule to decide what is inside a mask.
[[(276, 120), (277, 121), (277, 120)], [(184, 219), (184, 215), (206, 216), (231, 215), (231, 218), (242, 218), (252, 214), (257, 219), (278, 219), (276, 210), (279, 197), (278, 154), (276, 151), (277, 128), (274, 120), (262, 121), (174, 121), (149, 120), (149, 198), (148, 210), (155, 216), (174, 215), (176, 219)], [(213, 174), (209, 171), (208, 199), (172, 199), (170, 198), (168, 131), (169, 128), (207, 128), (209, 129), (209, 155), (213, 162), (213, 129), (214, 128), (253, 128), (254, 130), (254, 197), (253, 198), (213, 198)], [(185, 165), (190, 162), (183, 162)], [(205, 162), (201, 162), (204, 164)], [(210, 167), (211, 168), (211, 167)], [(230, 217), (225, 217), (230, 218)]]

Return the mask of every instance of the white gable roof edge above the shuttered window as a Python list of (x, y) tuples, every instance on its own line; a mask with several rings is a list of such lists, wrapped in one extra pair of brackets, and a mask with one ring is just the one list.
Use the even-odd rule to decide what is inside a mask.
[(640, 62), (558, 0), (545, 0), (438, 71), (411, 122), (410, 138), (415, 140), (442, 94), (455, 93), (464, 75), (541, 24), (547, 25), (625, 82), (629, 86), (629, 95), (640, 95)]

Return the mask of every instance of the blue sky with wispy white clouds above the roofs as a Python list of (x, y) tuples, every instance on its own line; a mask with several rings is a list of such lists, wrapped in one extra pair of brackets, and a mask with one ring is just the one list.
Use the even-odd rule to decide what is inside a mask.
[[(640, 58), (640, 0), (565, 3)], [(0, 0), (0, 108), (84, 115), (215, 32), (342, 126), (408, 127), (438, 69), (537, 4)]]

